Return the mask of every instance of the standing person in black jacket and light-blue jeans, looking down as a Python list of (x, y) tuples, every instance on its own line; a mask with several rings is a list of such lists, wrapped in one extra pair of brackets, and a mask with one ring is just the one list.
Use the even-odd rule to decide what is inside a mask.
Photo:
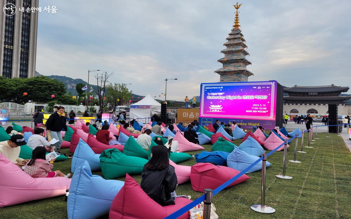
[(51, 138), (59, 140), (53, 146), (56, 146), (57, 149), (61, 148), (62, 145), (62, 133), (61, 131), (67, 131), (66, 117), (65, 117), (65, 108), (58, 107), (57, 111), (49, 116), (46, 121), (46, 130), (49, 130)]

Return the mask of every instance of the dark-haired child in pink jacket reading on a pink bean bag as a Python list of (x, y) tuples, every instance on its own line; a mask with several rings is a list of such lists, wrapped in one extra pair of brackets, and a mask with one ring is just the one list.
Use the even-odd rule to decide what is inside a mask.
[(45, 159), (46, 149), (42, 146), (39, 146), (33, 150), (32, 159), (28, 161), (25, 166), (24, 171), (33, 178), (38, 177), (66, 177), (71, 178), (72, 174), (68, 173), (67, 175), (63, 174), (61, 171), (51, 171), (54, 166), (55, 159), (51, 159), (50, 162)]

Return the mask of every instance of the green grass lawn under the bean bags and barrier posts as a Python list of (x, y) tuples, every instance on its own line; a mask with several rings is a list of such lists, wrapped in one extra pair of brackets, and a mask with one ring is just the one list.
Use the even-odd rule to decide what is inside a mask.
[[(275, 177), (282, 173), (283, 151), (268, 157), (272, 163), (266, 171), (266, 205), (274, 207), (273, 214), (260, 214), (250, 209), (260, 203), (261, 172), (247, 174), (251, 179), (230, 187), (213, 197), (219, 218), (351, 218), (351, 155), (341, 137), (325, 133), (318, 135), (313, 148), (304, 148), (307, 153), (298, 153), (302, 163), (287, 162), (286, 175), (293, 179)], [(241, 139), (234, 143), (239, 145)], [(298, 140), (300, 148), (300, 139)], [(307, 135), (305, 135), (305, 146)], [(211, 145), (204, 145), (211, 151)], [(68, 154), (69, 149), (61, 150)], [(294, 141), (287, 150), (287, 159), (293, 158)], [(201, 151), (188, 152), (191, 155)], [(180, 165), (192, 166), (195, 159)], [(71, 172), (71, 159), (54, 164), (54, 170)], [(93, 174), (102, 176), (97, 171)], [(132, 176), (138, 183), (141, 175)], [(124, 178), (118, 178), (124, 180)], [(192, 199), (202, 195), (193, 191), (190, 181), (177, 187), (177, 194), (191, 195)], [(1, 195), (1, 194), (0, 194)], [(31, 201), (0, 208), (0, 218), (67, 218), (65, 196)], [(102, 218), (108, 218), (108, 215)], [(147, 218), (147, 217), (146, 217)]]

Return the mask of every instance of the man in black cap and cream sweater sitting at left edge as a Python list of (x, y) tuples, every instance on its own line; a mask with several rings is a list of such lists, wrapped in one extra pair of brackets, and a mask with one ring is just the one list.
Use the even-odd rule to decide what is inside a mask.
[(8, 141), (0, 142), (0, 154), (11, 160), (15, 165), (22, 167), (26, 165), (29, 159), (19, 157), (21, 148), (19, 146), (26, 145), (26, 141), (22, 135), (13, 135)]

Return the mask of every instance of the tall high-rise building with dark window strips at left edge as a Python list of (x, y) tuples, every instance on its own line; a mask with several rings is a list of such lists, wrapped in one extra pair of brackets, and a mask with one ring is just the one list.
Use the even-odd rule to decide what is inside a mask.
[(1, 0), (0, 75), (34, 77), (37, 54), (39, 0)]

